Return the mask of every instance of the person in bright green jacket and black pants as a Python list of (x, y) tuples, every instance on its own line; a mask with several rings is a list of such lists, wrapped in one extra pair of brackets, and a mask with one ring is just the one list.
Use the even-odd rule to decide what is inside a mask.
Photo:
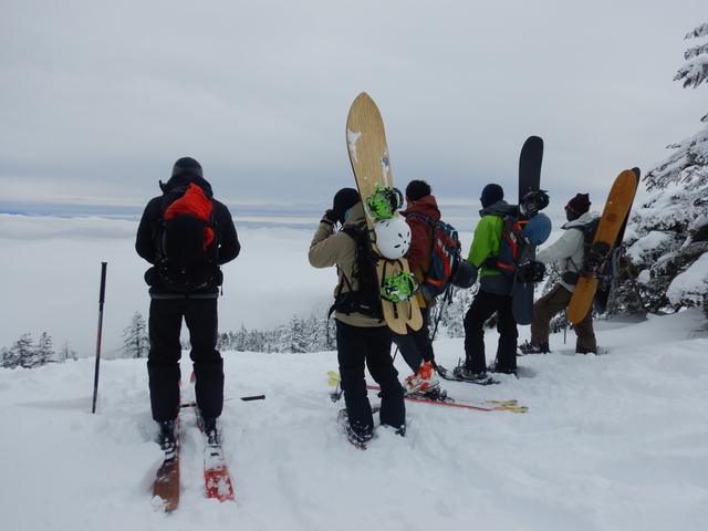
[(481, 220), (475, 229), (475, 238), (469, 250), (469, 261), (479, 274), (479, 291), (465, 315), (465, 363), (456, 367), (454, 374), (465, 379), (486, 379), (485, 323), (497, 312), (499, 344), (497, 358), (489, 371), (494, 373), (517, 373), (517, 340), (519, 332), (511, 306), (511, 279), (501, 274), (497, 258), (501, 247), (503, 216), (516, 216), (518, 207), (503, 200), (501, 186), (490, 184), (480, 198)]

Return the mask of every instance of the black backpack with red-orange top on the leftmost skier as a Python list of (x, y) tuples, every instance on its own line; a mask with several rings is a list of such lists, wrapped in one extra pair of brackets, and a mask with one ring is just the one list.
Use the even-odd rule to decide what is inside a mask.
[(157, 272), (165, 287), (190, 292), (221, 284), (214, 200), (199, 186), (166, 192), (158, 225)]

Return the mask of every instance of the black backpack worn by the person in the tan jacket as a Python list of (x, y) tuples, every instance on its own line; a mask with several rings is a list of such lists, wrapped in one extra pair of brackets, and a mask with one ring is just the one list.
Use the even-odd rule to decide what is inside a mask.
[[(372, 237), (366, 223), (360, 226), (347, 225), (342, 232), (351, 237), (356, 243), (356, 262), (353, 277), (358, 281), (358, 290), (352, 291), (352, 282), (342, 275), (342, 282), (337, 288), (334, 304), (330, 310), (346, 315), (357, 312), (367, 317), (384, 320), (384, 310), (381, 304), (381, 285), (376, 273), (378, 254), (372, 249)], [(342, 292), (344, 284), (350, 291)]]

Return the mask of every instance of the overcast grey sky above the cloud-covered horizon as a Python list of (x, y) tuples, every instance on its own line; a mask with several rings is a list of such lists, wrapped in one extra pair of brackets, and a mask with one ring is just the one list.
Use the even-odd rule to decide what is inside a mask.
[(361, 92), (400, 187), (516, 200), (539, 135), (552, 207), (601, 209), (621, 170), (702, 127), (705, 87), (673, 77), (707, 21), (706, 0), (6, 0), (0, 211), (139, 212), (191, 156), (237, 220), (317, 219), (354, 185)]

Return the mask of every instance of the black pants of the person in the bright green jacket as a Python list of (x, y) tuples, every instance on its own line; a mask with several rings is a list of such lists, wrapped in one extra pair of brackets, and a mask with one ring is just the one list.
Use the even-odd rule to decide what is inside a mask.
[(496, 369), (498, 372), (517, 371), (517, 340), (519, 331), (513, 319), (511, 296), (479, 291), (465, 315), (465, 368), (472, 373), (487, 371), (485, 356), (485, 323), (497, 312)]

